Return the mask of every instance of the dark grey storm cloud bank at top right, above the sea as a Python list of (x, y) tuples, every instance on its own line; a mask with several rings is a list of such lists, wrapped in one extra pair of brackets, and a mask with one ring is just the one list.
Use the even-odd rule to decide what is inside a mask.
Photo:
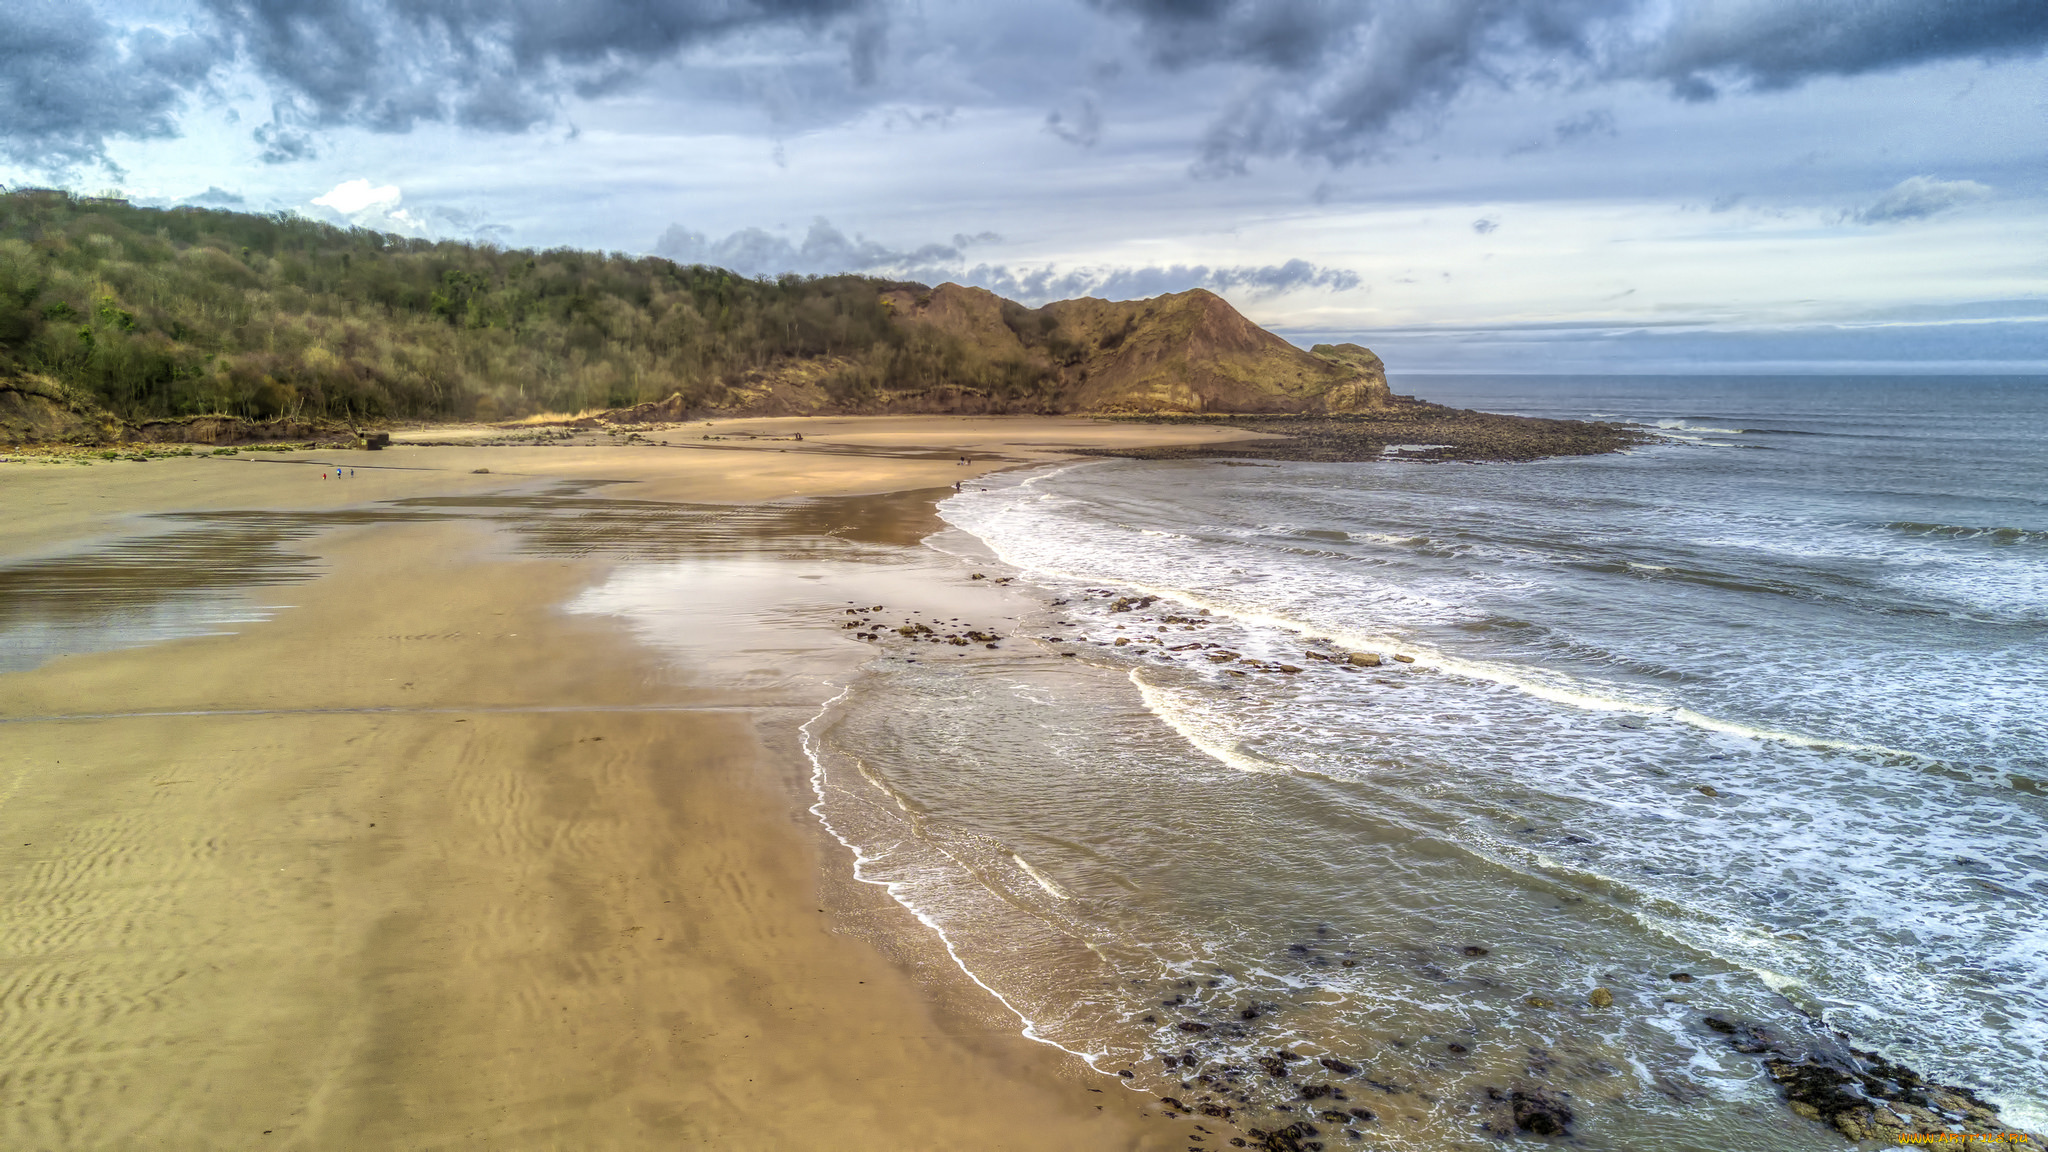
[[(1198, 170), (1253, 156), (1337, 164), (1470, 86), (1653, 80), (1686, 100), (1937, 59), (2038, 55), (2040, 0), (1096, 0), (1167, 70), (1262, 76), (1219, 115)], [(1579, 133), (1612, 121), (1573, 125)], [(1569, 137), (1561, 127), (1561, 139)]]

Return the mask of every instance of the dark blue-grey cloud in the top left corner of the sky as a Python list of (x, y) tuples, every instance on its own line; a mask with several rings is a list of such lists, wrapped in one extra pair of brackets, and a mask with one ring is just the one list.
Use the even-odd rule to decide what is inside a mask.
[(172, 135), (219, 53), (197, 35), (121, 33), (82, 4), (25, 0), (4, 23), (0, 158), (55, 172), (102, 162), (115, 135)]

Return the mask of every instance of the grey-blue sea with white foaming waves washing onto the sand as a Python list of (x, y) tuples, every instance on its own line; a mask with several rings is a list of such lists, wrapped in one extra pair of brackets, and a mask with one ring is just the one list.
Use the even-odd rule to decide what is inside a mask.
[(1708, 1015), (2048, 1129), (2048, 379), (1403, 389), (1663, 439), (946, 500), (1018, 607), (807, 726), (862, 879), (1030, 1035), (1329, 1148), (1532, 1086), (1583, 1148), (1839, 1148)]

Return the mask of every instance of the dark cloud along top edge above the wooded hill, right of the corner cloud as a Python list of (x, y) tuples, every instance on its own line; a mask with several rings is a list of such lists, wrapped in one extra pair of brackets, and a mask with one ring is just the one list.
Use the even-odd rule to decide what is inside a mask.
[(883, 27), (866, 0), (205, 0), (309, 123), (408, 131), (453, 121), (518, 131), (563, 92), (614, 90), (645, 68), (760, 29), (842, 33), (870, 76)]

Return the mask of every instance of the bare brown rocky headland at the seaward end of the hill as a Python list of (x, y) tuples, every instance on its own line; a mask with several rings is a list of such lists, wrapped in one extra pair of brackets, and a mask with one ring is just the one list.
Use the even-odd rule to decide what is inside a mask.
[(985, 289), (885, 293), (913, 332), (956, 340), (1008, 379), (1038, 379), (1044, 412), (1362, 412), (1389, 402), (1380, 359), (1358, 344), (1305, 353), (1194, 289), (1153, 299), (1024, 307)]

